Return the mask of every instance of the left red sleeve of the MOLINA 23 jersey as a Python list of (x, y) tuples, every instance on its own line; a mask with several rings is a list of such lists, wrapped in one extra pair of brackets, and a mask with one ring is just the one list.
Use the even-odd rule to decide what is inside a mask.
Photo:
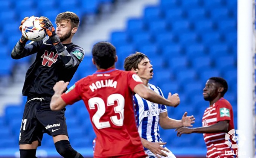
[(80, 82), (76, 82), (73, 86), (71, 86), (65, 93), (61, 94), (61, 98), (67, 105), (72, 105), (75, 102), (81, 100), (80, 96)]

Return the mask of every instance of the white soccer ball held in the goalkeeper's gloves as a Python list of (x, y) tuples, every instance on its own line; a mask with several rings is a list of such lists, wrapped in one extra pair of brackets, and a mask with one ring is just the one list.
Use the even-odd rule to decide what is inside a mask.
[(40, 41), (46, 36), (46, 31), (40, 26), (38, 17), (30, 17), (22, 25), (22, 35), (30, 41)]

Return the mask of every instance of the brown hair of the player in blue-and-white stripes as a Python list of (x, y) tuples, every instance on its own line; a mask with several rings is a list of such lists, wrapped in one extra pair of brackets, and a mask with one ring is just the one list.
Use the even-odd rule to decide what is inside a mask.
[(135, 70), (138, 68), (139, 63), (145, 58), (148, 58), (148, 56), (140, 52), (129, 55), (125, 58), (125, 63), (123, 65), (125, 71), (131, 71), (132, 68)]

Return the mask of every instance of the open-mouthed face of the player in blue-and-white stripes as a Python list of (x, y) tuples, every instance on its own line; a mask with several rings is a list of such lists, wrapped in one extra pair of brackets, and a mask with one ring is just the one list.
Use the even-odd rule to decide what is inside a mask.
[(144, 58), (140, 63), (138, 64), (138, 69), (136, 69), (136, 73), (140, 76), (142, 79), (152, 79), (153, 77), (153, 68), (152, 64), (150, 63), (148, 58)]

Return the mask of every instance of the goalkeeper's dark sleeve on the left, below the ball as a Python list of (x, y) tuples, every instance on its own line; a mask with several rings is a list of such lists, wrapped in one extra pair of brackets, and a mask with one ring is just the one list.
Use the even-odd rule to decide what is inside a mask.
[(20, 41), (18, 41), (17, 44), (12, 49), (11, 57), (13, 59), (20, 59), (24, 58), (25, 56), (37, 53), (42, 43), (44, 43), (44, 41), (47, 41), (48, 39), (49, 37), (45, 37), (41, 41), (32, 41), (29, 44), (21, 43)]

